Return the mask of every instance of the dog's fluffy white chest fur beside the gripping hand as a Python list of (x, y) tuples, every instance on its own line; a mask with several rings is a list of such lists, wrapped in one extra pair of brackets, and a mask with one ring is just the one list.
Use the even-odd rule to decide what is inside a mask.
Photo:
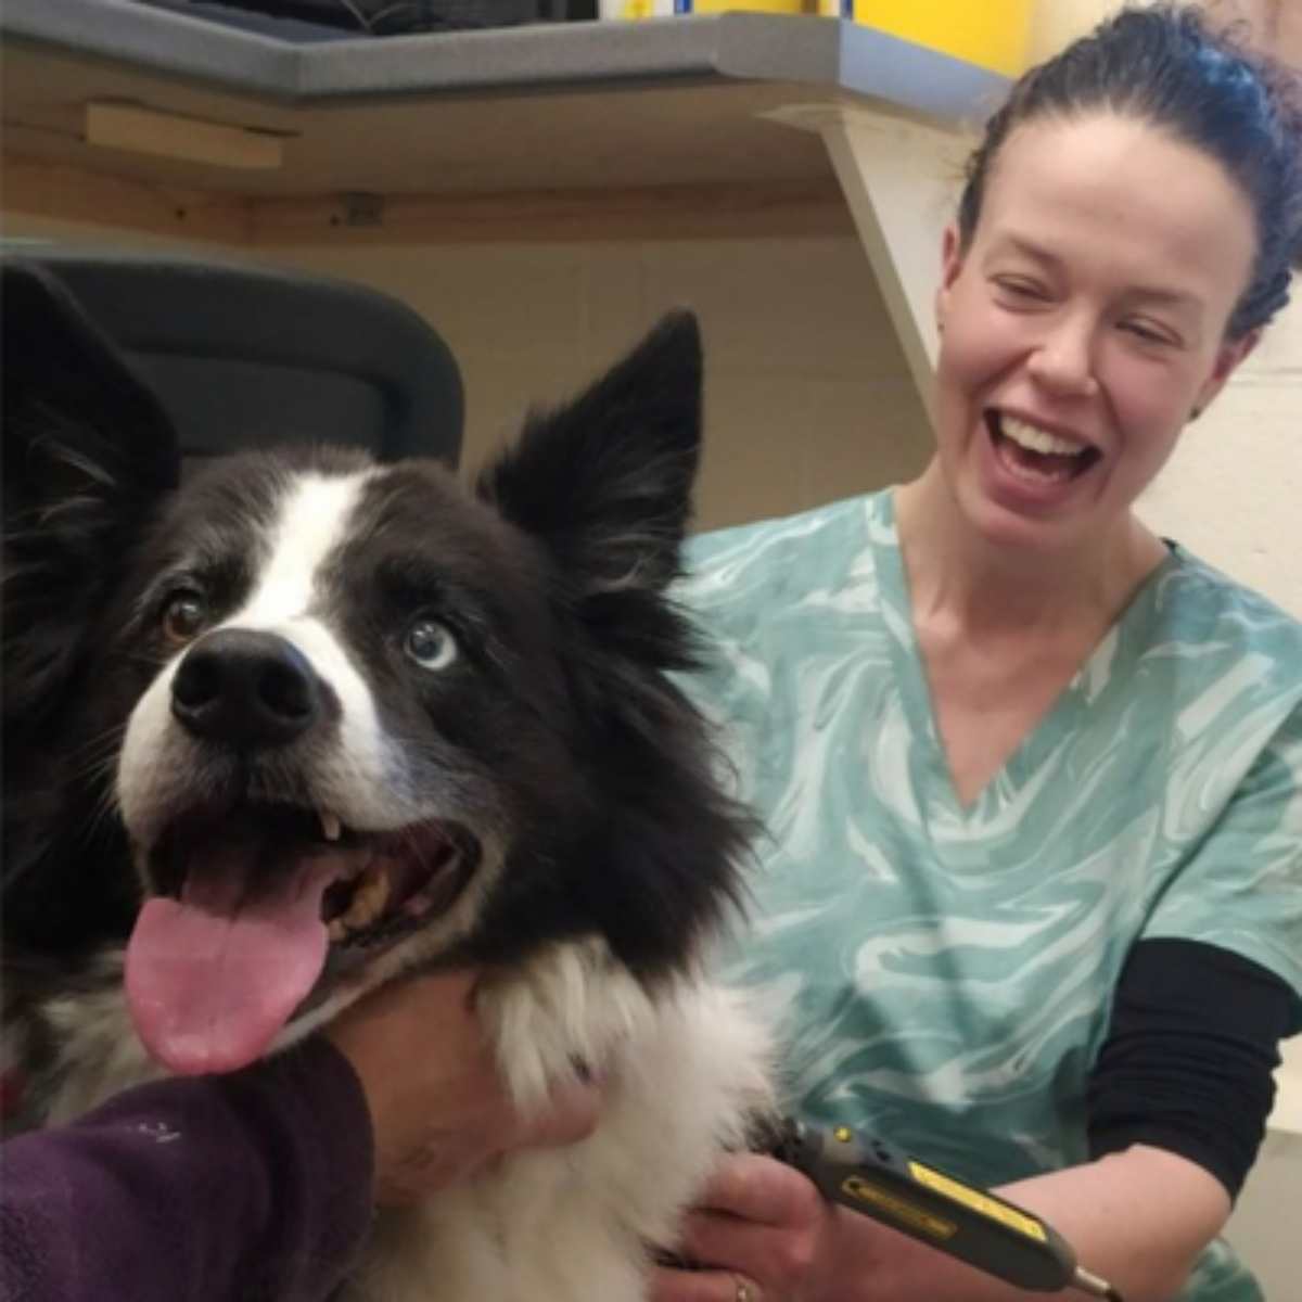
[(648, 999), (595, 945), (555, 947), (482, 1010), (513, 1087), (574, 1056), (607, 1064), (600, 1122), (578, 1144), (517, 1152), (380, 1217), (350, 1297), (635, 1302), (650, 1249), (673, 1246), (721, 1152), (771, 1105), (767, 1036), (736, 992), (682, 980)]

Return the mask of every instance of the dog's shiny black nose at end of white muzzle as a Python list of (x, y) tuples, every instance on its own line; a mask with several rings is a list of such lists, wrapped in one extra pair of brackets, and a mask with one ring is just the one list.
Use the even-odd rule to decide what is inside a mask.
[(219, 629), (195, 642), (177, 667), (172, 713), (207, 741), (243, 750), (284, 746), (320, 717), (322, 685), (284, 638)]

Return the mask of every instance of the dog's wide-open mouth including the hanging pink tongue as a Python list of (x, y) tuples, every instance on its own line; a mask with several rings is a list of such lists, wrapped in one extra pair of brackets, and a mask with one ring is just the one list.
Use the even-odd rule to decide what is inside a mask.
[(185, 812), (150, 852), (158, 893), (126, 952), (141, 1039), (185, 1074), (251, 1062), (320, 984), (449, 910), (478, 861), (437, 820), (359, 832), (293, 806)]

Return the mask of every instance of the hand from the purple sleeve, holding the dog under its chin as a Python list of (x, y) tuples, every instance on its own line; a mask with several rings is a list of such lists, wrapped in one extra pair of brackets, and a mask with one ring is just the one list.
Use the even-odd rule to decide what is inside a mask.
[(575, 1077), (542, 1116), (518, 1116), (473, 1006), (475, 974), (396, 982), (348, 1009), (326, 1035), (352, 1062), (375, 1143), (375, 1200), (415, 1202), (513, 1148), (591, 1134), (600, 1088)]

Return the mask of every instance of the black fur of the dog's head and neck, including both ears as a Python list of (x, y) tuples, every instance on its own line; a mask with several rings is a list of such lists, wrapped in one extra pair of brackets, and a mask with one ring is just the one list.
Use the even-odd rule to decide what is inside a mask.
[[(5, 1004), (34, 1052), (34, 1009), (125, 943), (142, 897), (113, 785), (122, 729), (168, 654), (160, 575), (203, 521), (227, 557), (208, 595), (233, 609), (249, 574), (227, 542), (270, 510), (267, 486), (285, 466), (357, 458), (242, 454), (178, 487), (163, 409), (66, 290), (10, 260), (3, 293)], [(678, 314), (577, 401), (533, 417), (473, 493), (413, 462), (368, 499), (332, 596), (345, 635), (387, 729), (435, 738), (428, 762), (452, 756), (491, 785), (510, 825), (505, 871), (449, 960), (512, 963), (595, 934), (654, 980), (738, 897), (750, 825), (668, 676), (695, 655), (665, 589), (699, 419), (699, 339)], [(354, 570), (392, 582), (358, 586)], [(453, 694), (387, 678), (375, 629), (383, 603), (409, 596), (436, 603), (469, 648)], [(204, 776), (230, 802), (297, 794), (250, 781), (216, 762)]]

